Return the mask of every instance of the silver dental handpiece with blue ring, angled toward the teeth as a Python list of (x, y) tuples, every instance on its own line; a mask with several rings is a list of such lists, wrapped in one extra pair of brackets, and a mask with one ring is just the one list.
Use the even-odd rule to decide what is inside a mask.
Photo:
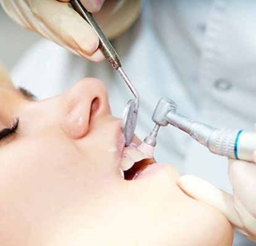
[[(256, 132), (217, 129), (202, 122), (192, 121), (192, 119), (177, 113), (176, 108), (177, 106), (173, 101), (161, 98), (155, 108), (152, 120), (159, 127), (167, 124), (178, 127), (178, 129), (191, 135), (194, 140), (206, 146), (212, 153), (254, 162), (252, 154), (256, 149)], [(146, 141), (148, 145), (151, 145), (147, 138), (145, 138), (144, 142)]]

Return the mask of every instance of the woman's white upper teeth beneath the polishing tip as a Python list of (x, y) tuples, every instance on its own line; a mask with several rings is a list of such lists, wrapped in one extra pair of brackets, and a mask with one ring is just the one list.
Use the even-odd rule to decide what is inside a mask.
[(146, 154), (142, 153), (138, 149), (135, 149), (134, 147), (126, 147), (120, 161), (120, 169), (126, 171), (133, 166), (134, 162), (141, 161), (147, 157), (148, 156)]

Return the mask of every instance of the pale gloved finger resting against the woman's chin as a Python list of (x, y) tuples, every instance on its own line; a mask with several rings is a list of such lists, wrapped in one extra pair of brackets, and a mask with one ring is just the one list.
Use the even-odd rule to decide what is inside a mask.
[(234, 207), (231, 194), (221, 191), (209, 182), (192, 175), (181, 176), (177, 184), (192, 198), (217, 208), (233, 224), (234, 229), (242, 231), (242, 222)]

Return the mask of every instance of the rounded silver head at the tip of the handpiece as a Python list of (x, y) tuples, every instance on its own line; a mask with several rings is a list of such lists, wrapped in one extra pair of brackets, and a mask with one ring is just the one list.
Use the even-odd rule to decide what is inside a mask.
[(155, 107), (152, 120), (157, 125), (166, 126), (168, 125), (166, 116), (170, 111), (176, 111), (177, 105), (174, 101), (168, 98), (161, 98)]

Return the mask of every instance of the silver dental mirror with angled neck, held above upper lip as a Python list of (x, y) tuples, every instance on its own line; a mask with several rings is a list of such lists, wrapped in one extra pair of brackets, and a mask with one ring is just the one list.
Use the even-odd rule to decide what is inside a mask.
[(131, 143), (136, 128), (139, 109), (139, 93), (123, 71), (117, 52), (115, 52), (114, 48), (109, 42), (109, 39), (107, 39), (99, 25), (97, 25), (93, 15), (91, 15), (91, 13), (89, 13), (78, 0), (71, 0), (70, 4), (72, 5), (73, 9), (75, 9), (76, 12), (78, 12), (78, 14), (80, 14), (81, 17), (83, 17), (89, 23), (89, 25), (93, 27), (94, 31), (96, 31), (97, 36), (99, 37), (99, 49), (101, 49), (110, 65), (112, 65), (118, 71), (118, 73), (120, 73), (126, 85), (128, 85), (129, 89), (136, 98), (129, 100), (125, 106), (125, 110), (123, 111), (122, 130), (123, 134), (125, 135), (125, 145), (127, 146)]

